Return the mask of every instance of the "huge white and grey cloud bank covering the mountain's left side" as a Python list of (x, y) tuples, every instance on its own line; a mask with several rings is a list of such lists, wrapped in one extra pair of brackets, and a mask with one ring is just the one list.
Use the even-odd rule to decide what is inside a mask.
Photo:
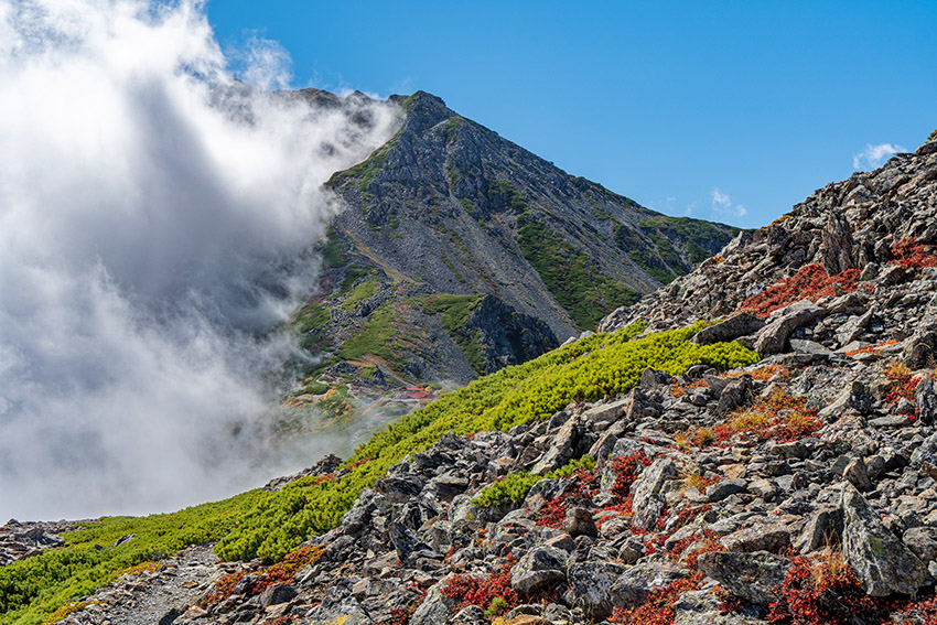
[(241, 62), (198, 2), (0, 1), (0, 522), (177, 508), (256, 468), (321, 183), (396, 111), (265, 91), (270, 42)]

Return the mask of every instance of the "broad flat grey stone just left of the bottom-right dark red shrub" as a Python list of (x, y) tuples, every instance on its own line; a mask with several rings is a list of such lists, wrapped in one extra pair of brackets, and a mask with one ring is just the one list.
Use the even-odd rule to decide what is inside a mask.
[(767, 551), (702, 553), (699, 569), (735, 596), (755, 605), (777, 601), (773, 589), (784, 582), (790, 561)]

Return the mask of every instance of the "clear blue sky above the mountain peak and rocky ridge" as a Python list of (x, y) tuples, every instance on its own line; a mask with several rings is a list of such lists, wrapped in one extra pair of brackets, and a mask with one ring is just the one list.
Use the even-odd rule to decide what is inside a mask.
[(423, 89), (645, 206), (745, 227), (937, 128), (933, 0), (209, 0), (207, 12), (226, 51), (278, 42), (294, 87)]

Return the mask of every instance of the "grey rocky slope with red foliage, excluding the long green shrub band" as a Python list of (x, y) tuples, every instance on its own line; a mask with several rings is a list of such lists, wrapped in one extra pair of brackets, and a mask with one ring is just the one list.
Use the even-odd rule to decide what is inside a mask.
[[(602, 324), (728, 315), (692, 341), (739, 337), (757, 364), (645, 368), (627, 394), (444, 435), (335, 529), (165, 622), (937, 622), (935, 224), (937, 141)], [(347, 472), (324, 459), (291, 479)]]

